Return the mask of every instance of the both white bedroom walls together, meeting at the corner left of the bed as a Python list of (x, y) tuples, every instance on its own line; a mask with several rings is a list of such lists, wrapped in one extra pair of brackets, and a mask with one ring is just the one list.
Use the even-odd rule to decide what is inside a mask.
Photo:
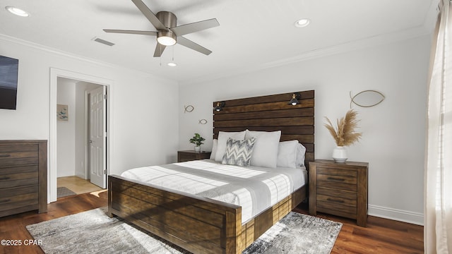
[[(430, 37), (420, 37), (178, 88), (172, 80), (0, 35), (0, 54), (19, 59), (17, 110), (0, 109), (0, 139), (49, 138), (51, 67), (113, 80), (110, 174), (175, 162), (178, 148), (192, 149), (188, 140), (195, 132), (207, 139), (203, 149), (210, 149), (212, 102), (311, 89), (316, 90), (316, 158), (328, 159), (335, 145), (323, 116), (343, 116), (350, 91), (379, 90), (384, 102), (355, 108), (364, 135), (349, 147), (349, 158), (370, 164), (369, 214), (422, 224), (429, 46)], [(189, 104), (194, 111), (184, 113)]]

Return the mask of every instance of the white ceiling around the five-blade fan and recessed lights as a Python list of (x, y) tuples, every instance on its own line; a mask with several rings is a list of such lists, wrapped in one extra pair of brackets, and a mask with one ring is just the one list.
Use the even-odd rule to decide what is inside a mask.
[[(154, 58), (155, 37), (102, 29), (155, 30), (131, 0), (3, 0), (0, 34), (182, 83), (263, 68), (338, 45), (403, 40), (430, 32), (437, 0), (144, 0), (178, 25), (217, 18), (219, 27), (185, 35), (209, 56), (176, 44)], [(5, 6), (30, 13), (13, 16)], [(295, 28), (299, 18), (311, 19)], [(108, 47), (94, 37), (115, 43)], [(177, 62), (177, 67), (167, 62)], [(292, 59), (292, 60), (291, 60)]]

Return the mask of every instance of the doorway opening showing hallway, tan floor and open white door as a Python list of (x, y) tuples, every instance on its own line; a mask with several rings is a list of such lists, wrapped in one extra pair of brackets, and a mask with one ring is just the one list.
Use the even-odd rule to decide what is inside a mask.
[(105, 85), (61, 77), (57, 82), (57, 198), (105, 189)]

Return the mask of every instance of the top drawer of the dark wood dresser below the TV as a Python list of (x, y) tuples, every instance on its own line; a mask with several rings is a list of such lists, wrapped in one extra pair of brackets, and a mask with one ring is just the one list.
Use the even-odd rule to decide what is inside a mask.
[(0, 146), (0, 167), (38, 163), (37, 145)]

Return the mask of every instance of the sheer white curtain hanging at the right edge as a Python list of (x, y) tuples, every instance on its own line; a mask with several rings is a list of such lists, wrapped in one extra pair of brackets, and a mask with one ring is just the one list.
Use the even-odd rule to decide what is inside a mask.
[(432, 47), (424, 183), (425, 253), (452, 253), (452, 11), (441, 0)]

